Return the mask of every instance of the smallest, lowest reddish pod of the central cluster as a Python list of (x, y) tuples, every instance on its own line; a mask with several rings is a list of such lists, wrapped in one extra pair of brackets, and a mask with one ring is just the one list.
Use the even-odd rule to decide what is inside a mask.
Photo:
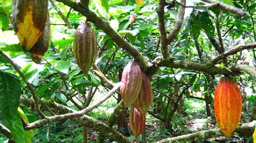
[(129, 113), (129, 124), (135, 138), (137, 138), (143, 132), (145, 122), (145, 115), (140, 113), (134, 106), (132, 106)]

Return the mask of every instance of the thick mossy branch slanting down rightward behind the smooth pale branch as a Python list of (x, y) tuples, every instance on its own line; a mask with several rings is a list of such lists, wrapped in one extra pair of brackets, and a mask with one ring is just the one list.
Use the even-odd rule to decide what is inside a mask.
[[(24, 97), (21, 97), (21, 103), (25, 104), (26, 106), (30, 107), (31, 109), (34, 109), (34, 103), (31, 99), (27, 99)], [(54, 111), (56, 114), (67, 114), (72, 112), (77, 112), (76, 110), (73, 110), (67, 106), (58, 104), (51, 100), (45, 100), (45, 104), (51, 108), (52, 111)], [(48, 109), (41, 105), (41, 109), (43, 111), (47, 111)], [(75, 117), (72, 118), (74, 121), (81, 123), (82, 125), (85, 125), (89, 128), (93, 128), (96, 131), (99, 131), (103, 134), (106, 134), (108, 137), (112, 138), (113, 140), (121, 143), (130, 143), (130, 141), (124, 137), (121, 133), (114, 130), (112, 127), (104, 124), (103, 122), (100, 122), (92, 117), (89, 117), (87, 115), (83, 115), (82, 117)]]

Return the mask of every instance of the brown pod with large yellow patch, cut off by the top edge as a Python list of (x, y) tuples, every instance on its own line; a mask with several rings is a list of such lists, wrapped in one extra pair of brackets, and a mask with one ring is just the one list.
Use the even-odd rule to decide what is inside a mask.
[(45, 29), (48, 0), (12, 0), (12, 23), (24, 51), (29, 51)]

